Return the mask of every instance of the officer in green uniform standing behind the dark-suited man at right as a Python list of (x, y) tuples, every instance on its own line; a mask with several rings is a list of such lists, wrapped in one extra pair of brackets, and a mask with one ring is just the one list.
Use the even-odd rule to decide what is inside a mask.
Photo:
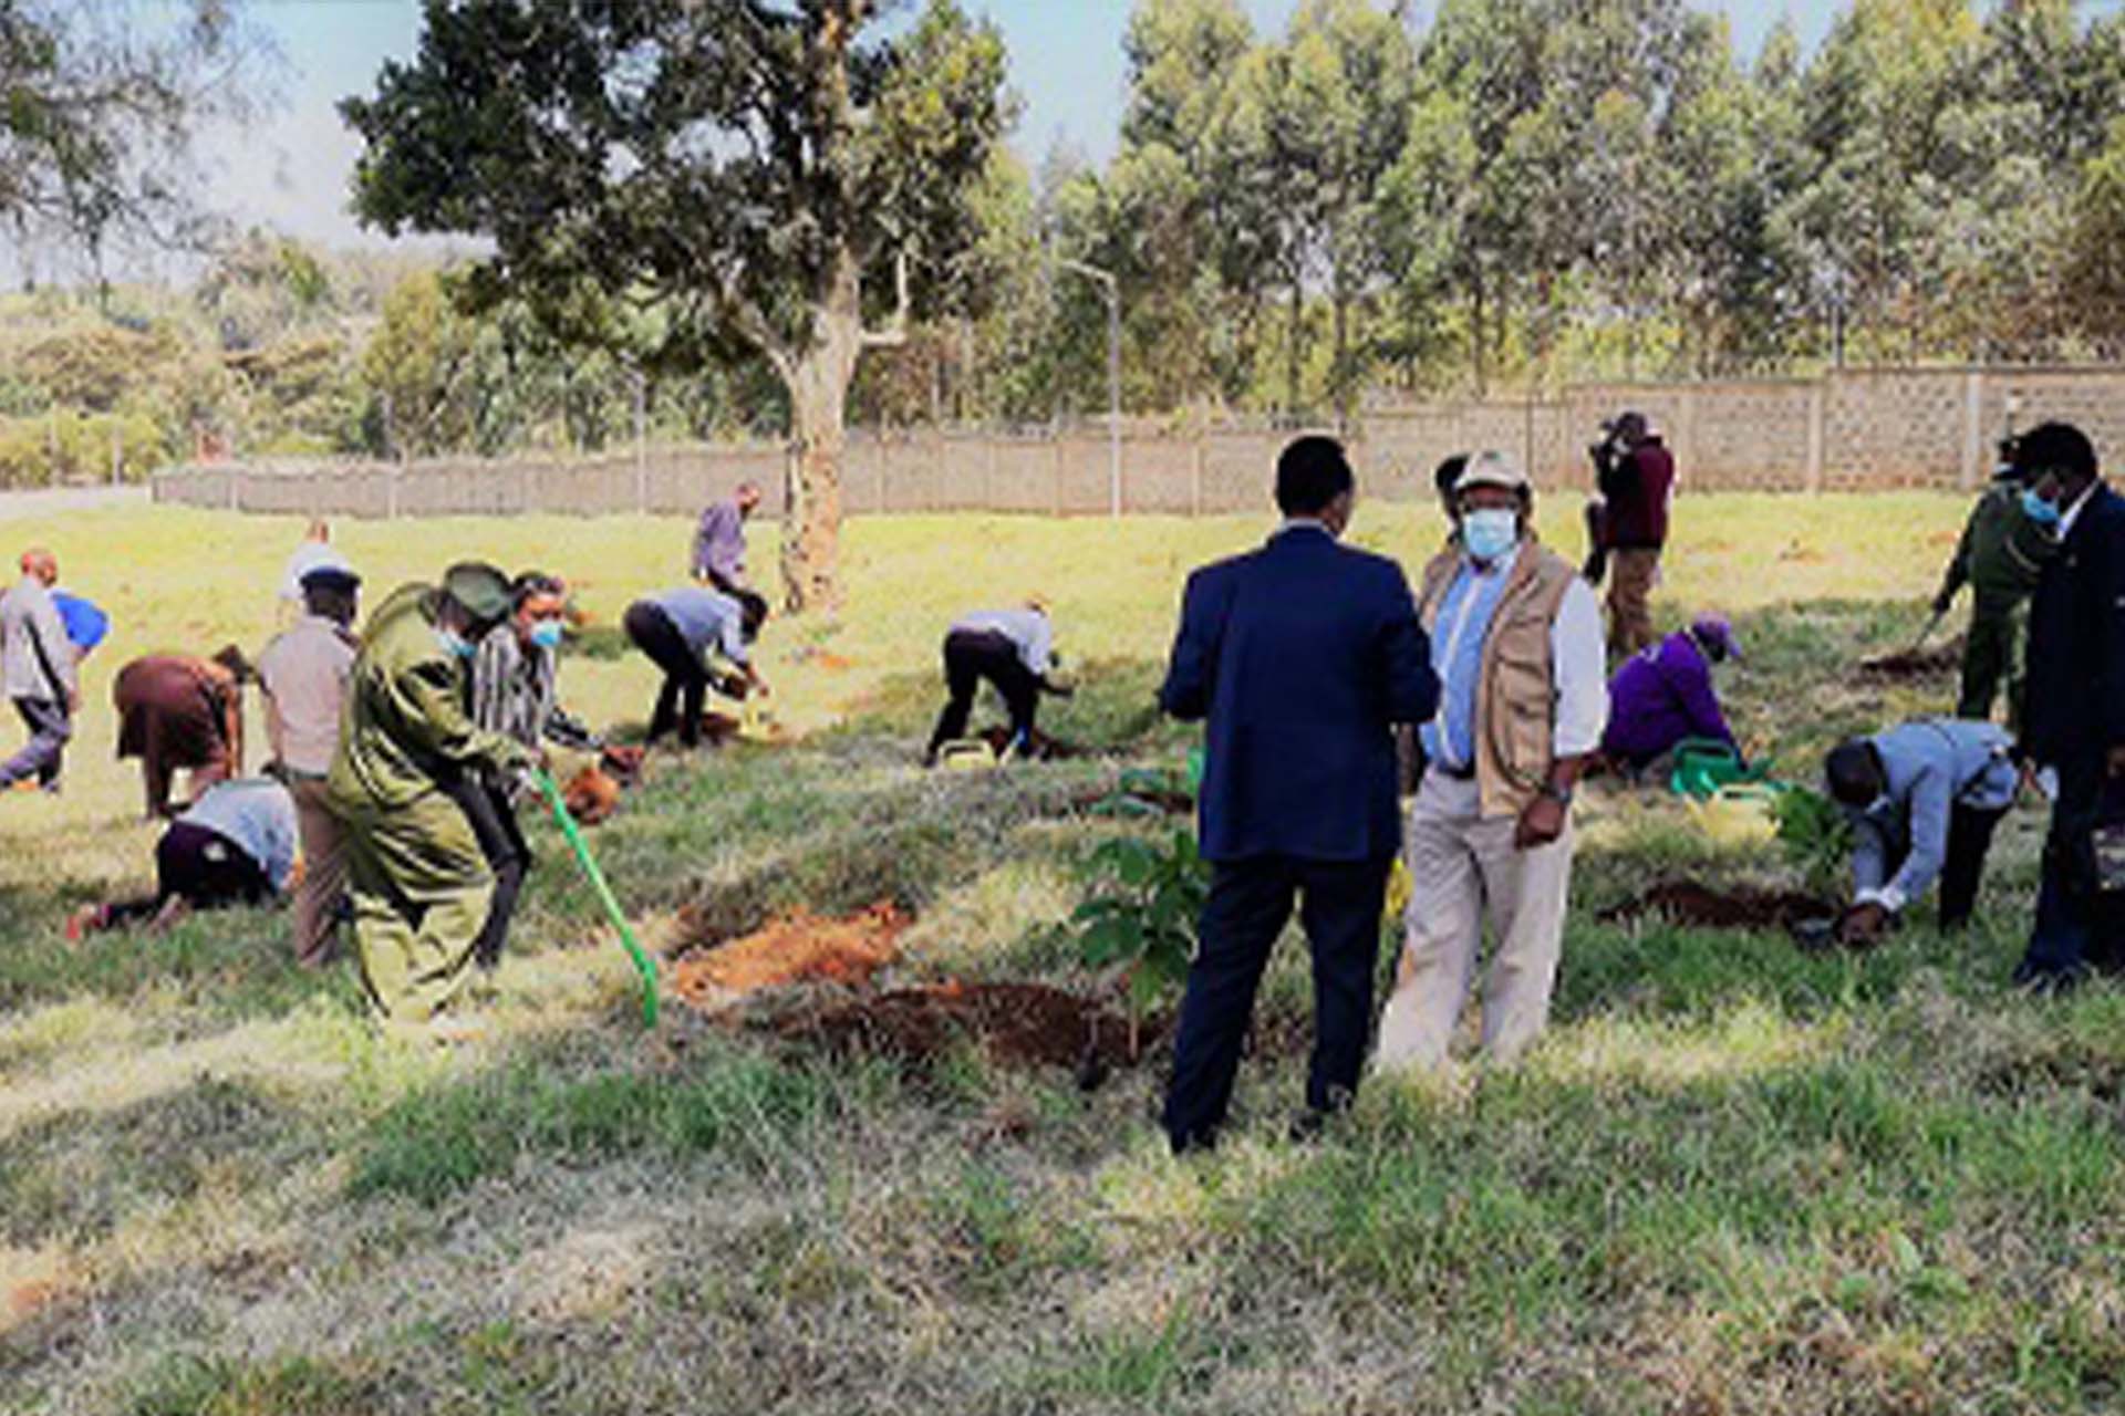
[(2023, 473), (2014, 467), (2014, 444), (2000, 444), (2000, 471), (1978, 497), (1955, 543), (1955, 558), (1934, 597), (1934, 614), (1946, 614), (1955, 592), (1970, 586), (1970, 637), (1964, 641), (1964, 686), (1957, 718), (1991, 718), (1993, 694), (2006, 679), (2008, 720), (2021, 701), (2021, 609), (2036, 590), (2036, 577), (2057, 552), (2057, 539), (2021, 510)]

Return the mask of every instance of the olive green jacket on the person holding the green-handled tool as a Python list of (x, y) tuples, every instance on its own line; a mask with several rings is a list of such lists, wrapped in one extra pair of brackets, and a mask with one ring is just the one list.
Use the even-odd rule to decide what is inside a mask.
[(440, 779), (531, 762), (523, 743), (472, 722), (472, 669), (442, 645), (438, 597), (431, 586), (402, 586), (361, 637), (329, 779), (342, 817), (404, 811), (431, 796)]

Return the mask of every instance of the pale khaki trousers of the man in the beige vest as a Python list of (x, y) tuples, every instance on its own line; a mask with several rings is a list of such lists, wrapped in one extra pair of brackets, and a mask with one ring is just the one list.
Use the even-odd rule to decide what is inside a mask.
[(1475, 981), (1490, 917), (1483, 1051), (1517, 1059), (1549, 1023), (1572, 879), (1572, 830), (1513, 849), (1515, 817), (1485, 817), (1475, 781), (1430, 771), (1409, 811), (1411, 898), (1394, 994), (1379, 1019), (1377, 1070), (1436, 1068)]

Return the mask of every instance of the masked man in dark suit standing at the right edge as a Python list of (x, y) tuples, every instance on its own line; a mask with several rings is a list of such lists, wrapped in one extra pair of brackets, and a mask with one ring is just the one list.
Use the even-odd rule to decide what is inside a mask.
[(2070, 987), (2125, 964), (2119, 896), (2100, 887), (2097, 826), (2125, 822), (2125, 497), (2074, 427), (2032, 429), (2014, 452), (2025, 510), (2059, 537), (2029, 605), (2021, 754), (2057, 773), (2044, 877), (2017, 983)]

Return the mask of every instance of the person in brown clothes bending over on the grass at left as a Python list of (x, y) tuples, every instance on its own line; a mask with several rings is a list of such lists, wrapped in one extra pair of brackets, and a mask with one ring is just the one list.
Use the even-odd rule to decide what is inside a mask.
[(242, 684), (251, 664), (234, 645), (212, 658), (149, 654), (119, 671), (119, 760), (140, 758), (149, 819), (170, 815), (170, 777), (191, 773), (198, 798), (244, 766)]

